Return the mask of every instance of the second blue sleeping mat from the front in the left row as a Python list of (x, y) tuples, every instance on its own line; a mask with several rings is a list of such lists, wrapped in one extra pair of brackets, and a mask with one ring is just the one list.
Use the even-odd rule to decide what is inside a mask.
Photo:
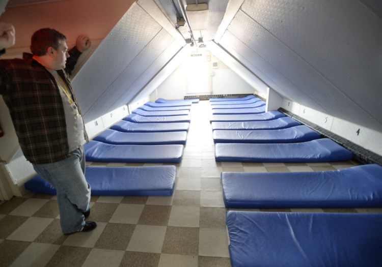
[(179, 163), (182, 144), (106, 144), (94, 140), (84, 145), (86, 160), (96, 162)]

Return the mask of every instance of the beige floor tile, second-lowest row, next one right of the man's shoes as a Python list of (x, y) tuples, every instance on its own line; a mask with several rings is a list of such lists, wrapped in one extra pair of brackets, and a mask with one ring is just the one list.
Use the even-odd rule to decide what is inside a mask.
[(126, 250), (160, 253), (166, 228), (166, 226), (137, 225)]

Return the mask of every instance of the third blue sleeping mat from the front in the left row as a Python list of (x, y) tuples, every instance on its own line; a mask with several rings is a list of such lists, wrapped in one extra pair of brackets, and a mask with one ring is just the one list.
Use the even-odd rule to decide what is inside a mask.
[(185, 144), (187, 132), (124, 133), (106, 129), (93, 138), (108, 144)]

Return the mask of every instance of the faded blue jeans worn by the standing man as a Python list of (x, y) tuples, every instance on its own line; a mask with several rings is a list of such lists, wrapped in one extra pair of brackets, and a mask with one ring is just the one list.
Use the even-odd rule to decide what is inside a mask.
[(63, 233), (81, 230), (85, 225), (83, 212), (89, 210), (90, 204), (90, 185), (85, 180), (84, 147), (70, 152), (67, 159), (32, 165), (57, 190)]

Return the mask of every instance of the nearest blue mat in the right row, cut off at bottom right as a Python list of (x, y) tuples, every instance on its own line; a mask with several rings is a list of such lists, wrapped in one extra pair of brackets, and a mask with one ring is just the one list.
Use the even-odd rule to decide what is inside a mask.
[(227, 212), (232, 267), (380, 266), (382, 214)]

